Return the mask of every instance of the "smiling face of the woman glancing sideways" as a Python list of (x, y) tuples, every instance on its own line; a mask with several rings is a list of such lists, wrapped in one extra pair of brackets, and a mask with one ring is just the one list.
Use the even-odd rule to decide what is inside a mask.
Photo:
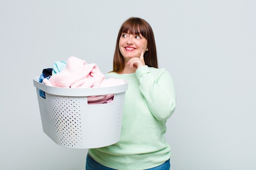
[(130, 60), (132, 57), (140, 57), (142, 49), (144, 53), (147, 49), (148, 41), (141, 34), (132, 35), (130, 33), (122, 33), (119, 40), (119, 50), (126, 59)]

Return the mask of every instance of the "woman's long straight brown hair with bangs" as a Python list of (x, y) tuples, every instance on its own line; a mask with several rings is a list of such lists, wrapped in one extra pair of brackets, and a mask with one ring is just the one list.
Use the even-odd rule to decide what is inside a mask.
[(139, 33), (141, 33), (141, 35), (146, 38), (148, 42), (148, 51), (144, 53), (144, 62), (149, 67), (158, 68), (155, 37), (150, 24), (141, 18), (131, 17), (122, 24), (119, 30), (114, 53), (113, 71), (110, 72), (119, 73), (124, 69), (124, 57), (119, 50), (119, 40), (122, 33), (128, 32), (133, 35), (139, 35)]

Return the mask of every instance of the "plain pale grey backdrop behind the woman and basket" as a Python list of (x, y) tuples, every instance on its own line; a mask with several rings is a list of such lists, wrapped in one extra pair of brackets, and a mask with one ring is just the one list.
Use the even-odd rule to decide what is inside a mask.
[(256, 170), (256, 1), (0, 0), (0, 170), (84, 170), (86, 149), (43, 133), (32, 78), (79, 57), (112, 70), (129, 17), (155, 33), (177, 107), (171, 170)]

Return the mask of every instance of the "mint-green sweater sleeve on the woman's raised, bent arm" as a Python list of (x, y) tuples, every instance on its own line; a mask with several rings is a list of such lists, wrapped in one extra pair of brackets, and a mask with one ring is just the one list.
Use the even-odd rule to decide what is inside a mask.
[(171, 117), (176, 106), (176, 91), (168, 71), (165, 68), (159, 69), (159, 73), (154, 76), (148, 66), (141, 66), (135, 74), (139, 81), (139, 89), (153, 116), (157, 120)]

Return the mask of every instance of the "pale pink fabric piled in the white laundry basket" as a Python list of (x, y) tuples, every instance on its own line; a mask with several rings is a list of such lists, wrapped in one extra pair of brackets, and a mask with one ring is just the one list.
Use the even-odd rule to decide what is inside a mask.
[[(43, 79), (48, 86), (65, 88), (93, 88), (117, 86), (124, 84), (122, 79), (110, 77), (105, 79), (97, 64), (87, 64), (77, 57), (69, 57), (67, 65), (60, 73), (56, 73), (50, 79)], [(89, 96), (88, 104), (111, 103), (114, 95)]]

